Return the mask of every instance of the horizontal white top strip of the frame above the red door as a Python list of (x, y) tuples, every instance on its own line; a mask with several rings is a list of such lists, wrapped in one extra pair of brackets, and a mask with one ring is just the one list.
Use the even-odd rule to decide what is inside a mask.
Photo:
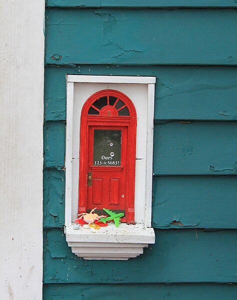
[(155, 77), (148, 76), (93, 76), (93, 75), (67, 75), (68, 82), (81, 83), (155, 83)]

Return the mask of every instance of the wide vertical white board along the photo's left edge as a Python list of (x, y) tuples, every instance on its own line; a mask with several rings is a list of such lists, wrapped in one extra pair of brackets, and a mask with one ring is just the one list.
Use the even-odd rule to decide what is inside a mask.
[(42, 298), (44, 1), (0, 1), (0, 298)]

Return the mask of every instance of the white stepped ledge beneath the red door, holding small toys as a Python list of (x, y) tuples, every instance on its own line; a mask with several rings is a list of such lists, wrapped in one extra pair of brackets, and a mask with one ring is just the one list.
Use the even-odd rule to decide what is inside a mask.
[(66, 241), (73, 253), (84, 259), (127, 260), (143, 253), (155, 241), (153, 228), (109, 223), (92, 232), (80, 227), (65, 227)]

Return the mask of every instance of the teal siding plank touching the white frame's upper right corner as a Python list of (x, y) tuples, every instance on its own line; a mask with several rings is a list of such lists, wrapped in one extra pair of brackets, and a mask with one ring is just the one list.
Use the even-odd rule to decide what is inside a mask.
[(237, 120), (237, 69), (170, 67), (156, 69), (154, 122)]

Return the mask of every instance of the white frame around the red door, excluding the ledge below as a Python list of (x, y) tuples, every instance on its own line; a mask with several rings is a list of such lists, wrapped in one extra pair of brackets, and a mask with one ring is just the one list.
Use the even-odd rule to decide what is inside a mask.
[[(73, 202), (76, 201), (73, 197), (73, 178), (76, 177), (73, 171), (73, 164), (79, 157), (73, 155), (73, 147), (75, 147), (75, 138), (79, 138), (80, 126), (78, 122), (75, 126), (75, 118), (80, 119), (80, 111), (75, 110), (75, 102), (80, 101), (79, 106), (83, 107), (88, 99), (78, 97), (80, 86), (76, 84), (95, 84), (96, 87), (101, 85), (100, 90), (104, 89), (104, 85), (108, 89), (121, 91), (129, 99), (131, 99), (136, 109), (137, 114), (137, 136), (143, 132), (141, 141), (137, 139), (136, 143), (136, 179), (135, 186), (140, 188), (142, 183), (142, 192), (135, 191), (135, 222), (145, 227), (151, 226), (151, 189), (152, 189), (152, 150), (153, 150), (153, 113), (154, 113), (154, 84), (155, 77), (138, 77), (138, 76), (86, 76), (86, 75), (67, 75), (67, 113), (66, 113), (66, 154), (65, 154), (65, 225), (71, 226), (73, 221)], [(119, 87), (114, 88), (114, 84)], [(125, 91), (133, 89), (136, 91), (138, 85), (143, 85), (145, 89), (145, 98), (136, 102), (134, 97), (130, 97)], [(122, 86), (122, 88), (121, 88)], [(82, 86), (81, 86), (82, 87)], [(96, 88), (95, 88), (96, 89)], [(76, 90), (76, 91), (75, 91)], [(96, 91), (96, 90), (95, 90)], [(92, 95), (93, 93), (91, 93)], [(134, 94), (134, 92), (133, 92)], [(77, 96), (76, 96), (77, 95)], [(144, 98), (144, 97), (143, 97)], [(83, 99), (83, 100), (82, 100)], [(142, 102), (143, 101), (143, 102)], [(74, 116), (74, 117), (73, 117)], [(76, 117), (75, 117), (76, 116)], [(144, 128), (145, 127), (145, 128)], [(140, 130), (139, 130), (140, 128)], [(76, 133), (75, 133), (76, 131)], [(145, 138), (145, 140), (144, 140)], [(78, 148), (79, 141), (76, 141)], [(143, 148), (142, 148), (143, 147)], [(142, 151), (140, 149), (143, 149)], [(79, 151), (78, 151), (79, 152)], [(139, 153), (143, 153), (140, 155)], [(78, 153), (79, 155), (79, 153)], [(142, 157), (140, 157), (142, 156)], [(77, 194), (78, 199), (78, 194)]]

